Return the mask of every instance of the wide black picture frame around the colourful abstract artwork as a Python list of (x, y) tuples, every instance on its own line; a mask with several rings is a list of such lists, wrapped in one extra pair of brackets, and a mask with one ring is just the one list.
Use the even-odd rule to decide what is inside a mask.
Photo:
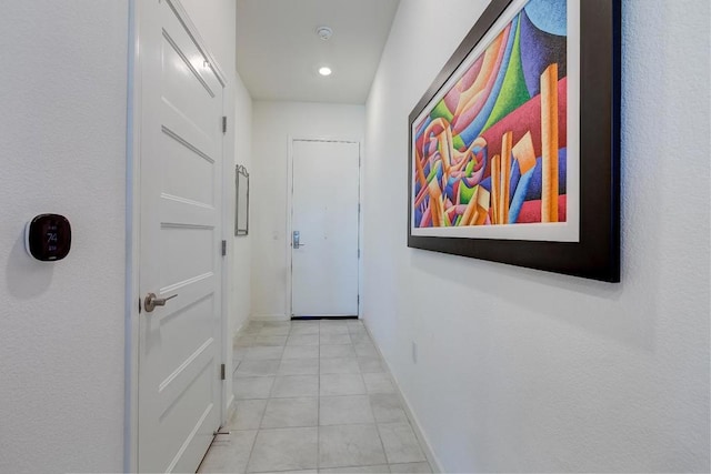
[(413, 122), (512, 0), (492, 0), (409, 115), (408, 246), (549, 272), (620, 281), (621, 1), (580, 2), (578, 242), (412, 234)]

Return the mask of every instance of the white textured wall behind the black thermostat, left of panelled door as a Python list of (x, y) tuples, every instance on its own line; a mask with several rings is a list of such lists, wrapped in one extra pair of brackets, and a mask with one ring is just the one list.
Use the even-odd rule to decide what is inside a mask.
[[(119, 472), (128, 2), (2, 3), (0, 472)], [(41, 263), (24, 223), (67, 215)]]

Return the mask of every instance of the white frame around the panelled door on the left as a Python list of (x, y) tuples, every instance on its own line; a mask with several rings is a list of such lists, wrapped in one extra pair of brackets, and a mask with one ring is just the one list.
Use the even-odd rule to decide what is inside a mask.
[[(138, 472), (138, 382), (139, 382), (139, 269), (140, 269), (140, 222), (141, 222), (141, 56), (140, 56), (140, 29), (139, 29), (139, 4), (144, 0), (129, 0), (129, 50), (128, 50), (128, 103), (127, 103), (127, 161), (126, 161), (126, 331), (124, 331), (124, 414), (123, 414), (123, 472)], [(217, 59), (207, 48), (207, 43), (198, 32), (194, 23), (188, 17), (188, 12), (180, 3), (180, 0), (164, 0), (174, 8), (180, 21), (189, 31), (192, 39), (198, 44), (201, 52), (209, 59), (218, 80), (223, 87), (222, 114), (232, 117), (229, 104), (226, 101), (231, 94), (228, 93), (229, 82), (227, 75), (220, 68)], [(138, 8), (137, 8), (138, 7)], [(227, 107), (226, 107), (227, 105)], [(231, 219), (228, 208), (234, 200), (230, 200), (233, 194), (232, 168), (233, 161), (228, 154), (226, 147), (228, 134), (222, 135), (222, 239), (228, 242), (228, 255), (231, 254), (232, 239), (229, 236), (229, 225)], [(229, 301), (230, 282), (232, 272), (228, 264), (229, 259), (222, 259), (222, 296), (221, 296), (221, 330), (220, 355), (223, 364), (227, 364), (228, 372), (231, 366), (232, 345), (229, 343)], [(233, 402), (231, 386), (227, 382), (222, 383), (222, 395), (220, 403), (220, 420), (224, 422), (229, 406)]]

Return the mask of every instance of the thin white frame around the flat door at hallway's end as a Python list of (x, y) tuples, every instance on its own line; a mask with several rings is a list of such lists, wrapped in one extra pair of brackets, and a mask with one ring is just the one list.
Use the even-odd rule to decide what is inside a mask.
[[(357, 143), (358, 144), (358, 206), (359, 210), (362, 210), (363, 202), (363, 140), (356, 139), (350, 137), (292, 137), (289, 135), (289, 153), (288, 153), (288, 163), (287, 163), (287, 301), (286, 309), (287, 314), (286, 319), (290, 320), (293, 311), (291, 307), (291, 296), (293, 292), (293, 284), (291, 281), (291, 232), (292, 232), (292, 200), (293, 200), (293, 142), (296, 141), (312, 141), (312, 142), (338, 142), (338, 143)], [(363, 242), (363, 214), (362, 212), (358, 212), (358, 250), (361, 250), (361, 245)], [(362, 254), (362, 252), (361, 252)], [(361, 294), (363, 283), (363, 264), (362, 259), (358, 259), (358, 295)], [(362, 302), (358, 301), (358, 319), (361, 319), (361, 306)]]

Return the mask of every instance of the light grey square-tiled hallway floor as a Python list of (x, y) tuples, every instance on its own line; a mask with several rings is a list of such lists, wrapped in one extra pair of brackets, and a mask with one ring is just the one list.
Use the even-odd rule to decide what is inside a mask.
[(199, 472), (432, 472), (360, 321), (251, 322), (233, 367), (231, 434)]

